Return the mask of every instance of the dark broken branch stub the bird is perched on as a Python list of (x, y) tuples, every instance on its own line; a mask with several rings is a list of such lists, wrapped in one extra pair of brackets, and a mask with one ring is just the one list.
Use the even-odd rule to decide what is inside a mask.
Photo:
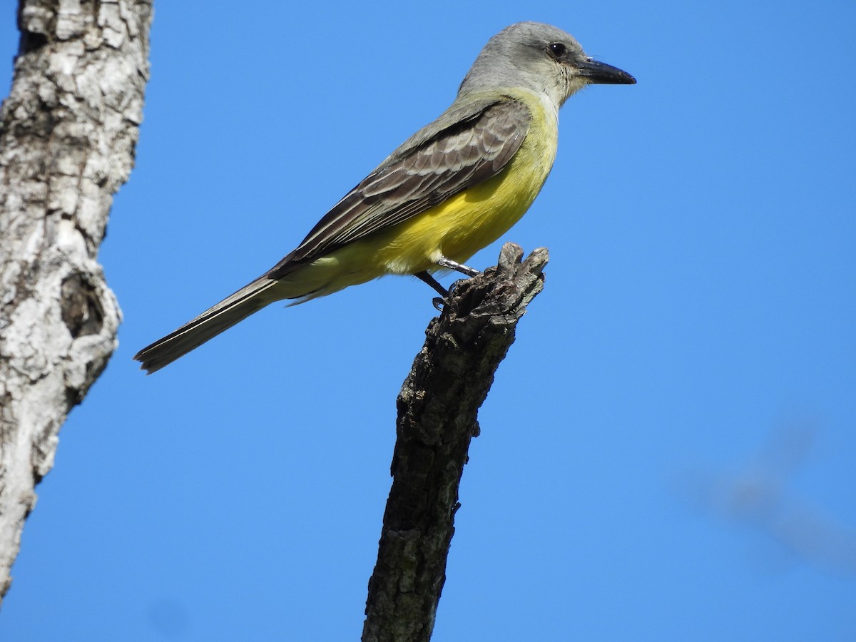
[(398, 397), (393, 483), (366, 603), (364, 642), (431, 639), (455, 532), (458, 485), (476, 419), (526, 306), (543, 288), (547, 250), (458, 282)]

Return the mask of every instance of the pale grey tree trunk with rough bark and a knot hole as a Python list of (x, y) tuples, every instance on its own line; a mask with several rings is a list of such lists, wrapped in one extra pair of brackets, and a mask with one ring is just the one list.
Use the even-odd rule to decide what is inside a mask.
[(116, 349), (96, 260), (134, 164), (151, 0), (21, 0), (0, 111), (0, 598), (62, 422)]

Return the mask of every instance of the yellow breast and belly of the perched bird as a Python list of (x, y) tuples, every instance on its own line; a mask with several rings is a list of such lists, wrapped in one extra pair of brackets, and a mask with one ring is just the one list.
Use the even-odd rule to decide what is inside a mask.
[(532, 107), (532, 124), (502, 172), (295, 270), (276, 288), (277, 298), (311, 299), (378, 276), (441, 270), (437, 259), (464, 263), (505, 234), (532, 205), (556, 158), (556, 111), (536, 94), (525, 98)]

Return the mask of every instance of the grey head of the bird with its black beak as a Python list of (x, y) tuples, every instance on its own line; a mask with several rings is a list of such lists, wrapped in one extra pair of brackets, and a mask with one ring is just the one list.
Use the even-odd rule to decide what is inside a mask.
[(633, 85), (619, 68), (592, 60), (572, 35), (540, 22), (518, 22), (488, 40), (461, 83), (459, 93), (522, 86), (562, 105), (593, 83)]

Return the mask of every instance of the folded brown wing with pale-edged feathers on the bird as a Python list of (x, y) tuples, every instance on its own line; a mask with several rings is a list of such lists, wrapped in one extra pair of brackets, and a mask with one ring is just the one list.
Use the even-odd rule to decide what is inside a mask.
[[(395, 152), (327, 212), (267, 276), (284, 276), (499, 174), (520, 149), (529, 122), (526, 105), (508, 98), (485, 103), (449, 127), (431, 123), (402, 146), (416, 141), (411, 149)], [(426, 137), (431, 128), (437, 133)]]

